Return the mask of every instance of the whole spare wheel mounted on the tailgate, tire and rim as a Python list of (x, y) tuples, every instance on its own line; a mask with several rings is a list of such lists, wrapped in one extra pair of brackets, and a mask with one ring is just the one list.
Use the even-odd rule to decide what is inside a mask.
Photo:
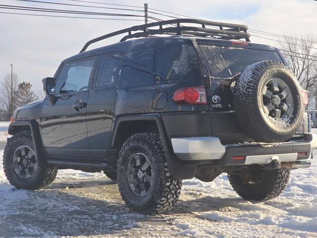
[(233, 104), (239, 125), (258, 142), (290, 139), (304, 115), (300, 86), (278, 61), (249, 65), (235, 83)]

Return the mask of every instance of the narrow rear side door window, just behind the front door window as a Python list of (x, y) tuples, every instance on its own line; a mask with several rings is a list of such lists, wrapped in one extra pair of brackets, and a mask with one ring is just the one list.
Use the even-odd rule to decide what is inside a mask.
[(107, 55), (103, 56), (97, 73), (96, 88), (105, 87), (112, 84), (119, 71), (121, 56)]

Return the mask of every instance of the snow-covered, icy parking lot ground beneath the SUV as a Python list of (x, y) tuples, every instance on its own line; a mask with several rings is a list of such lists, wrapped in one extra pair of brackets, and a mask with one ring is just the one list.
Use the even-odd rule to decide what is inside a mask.
[(240, 198), (222, 174), (184, 180), (179, 202), (158, 216), (130, 212), (102, 173), (61, 170), (48, 189), (25, 191), (8, 184), (1, 164), (0, 237), (317, 237), (315, 157), (273, 200)]

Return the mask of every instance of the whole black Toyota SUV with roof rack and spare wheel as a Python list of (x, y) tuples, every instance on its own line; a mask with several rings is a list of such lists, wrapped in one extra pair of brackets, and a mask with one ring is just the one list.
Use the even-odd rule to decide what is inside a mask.
[[(291, 169), (311, 165), (317, 139), (287, 62), (250, 43), (247, 29), (175, 19), (89, 41), (43, 79), (44, 100), (14, 112), (7, 179), (34, 190), (57, 169), (104, 171), (142, 213), (173, 206), (181, 179), (221, 173), (246, 199), (278, 196)], [(120, 43), (85, 51), (123, 33)]]

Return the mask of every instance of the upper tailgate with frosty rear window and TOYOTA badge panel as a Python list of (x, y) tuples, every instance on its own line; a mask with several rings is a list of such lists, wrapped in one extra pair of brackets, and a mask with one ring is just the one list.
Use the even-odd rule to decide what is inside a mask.
[[(273, 47), (230, 41), (219, 43), (213, 40), (198, 40), (201, 44), (212, 77), (211, 88), (208, 88), (208, 101), (211, 111), (233, 111), (232, 81), (247, 66), (263, 61), (282, 61)], [(241, 44), (245, 45), (241, 45)]]

